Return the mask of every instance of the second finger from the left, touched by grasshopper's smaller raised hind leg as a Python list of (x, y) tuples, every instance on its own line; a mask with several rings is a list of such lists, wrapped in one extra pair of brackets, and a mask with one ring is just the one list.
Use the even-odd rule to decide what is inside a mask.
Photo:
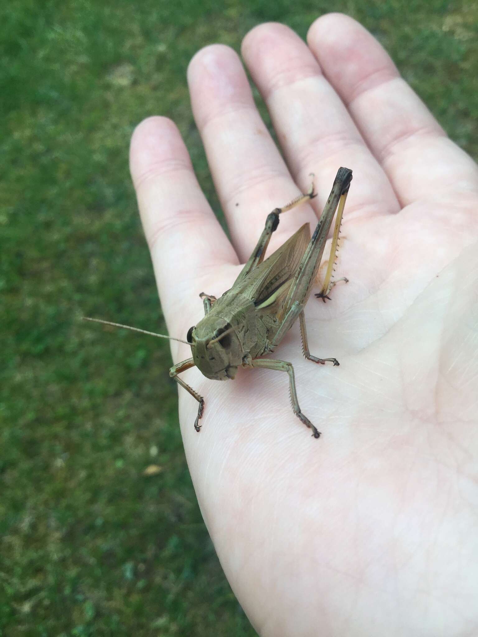
[[(268, 213), (291, 201), (299, 189), (257, 111), (238, 55), (222, 45), (206, 47), (192, 59), (187, 76), (217, 194), (244, 262)], [(310, 178), (301, 177), (305, 192)], [(317, 219), (305, 204), (281, 215), (270, 250), (306, 221), (315, 225)]]

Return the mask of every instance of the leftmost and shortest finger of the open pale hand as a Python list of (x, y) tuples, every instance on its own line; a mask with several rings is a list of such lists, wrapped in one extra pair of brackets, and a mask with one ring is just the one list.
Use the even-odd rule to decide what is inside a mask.
[[(130, 167), (164, 315), (173, 324), (201, 276), (237, 263), (228, 238), (199, 188), (176, 125), (150, 117), (133, 133)], [(201, 292), (194, 287), (194, 294)]]

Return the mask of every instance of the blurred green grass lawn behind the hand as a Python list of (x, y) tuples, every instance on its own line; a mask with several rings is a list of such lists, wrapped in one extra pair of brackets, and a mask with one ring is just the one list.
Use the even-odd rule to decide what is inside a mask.
[[(165, 329), (127, 169), (134, 125), (154, 114), (177, 122), (219, 212), (189, 59), (212, 42), (238, 50), (266, 20), (305, 36), (330, 10), (363, 22), (478, 155), (472, 0), (0, 8), (1, 636), (256, 634), (196, 504), (168, 343), (79, 319)], [(149, 464), (161, 473), (144, 476)]]

